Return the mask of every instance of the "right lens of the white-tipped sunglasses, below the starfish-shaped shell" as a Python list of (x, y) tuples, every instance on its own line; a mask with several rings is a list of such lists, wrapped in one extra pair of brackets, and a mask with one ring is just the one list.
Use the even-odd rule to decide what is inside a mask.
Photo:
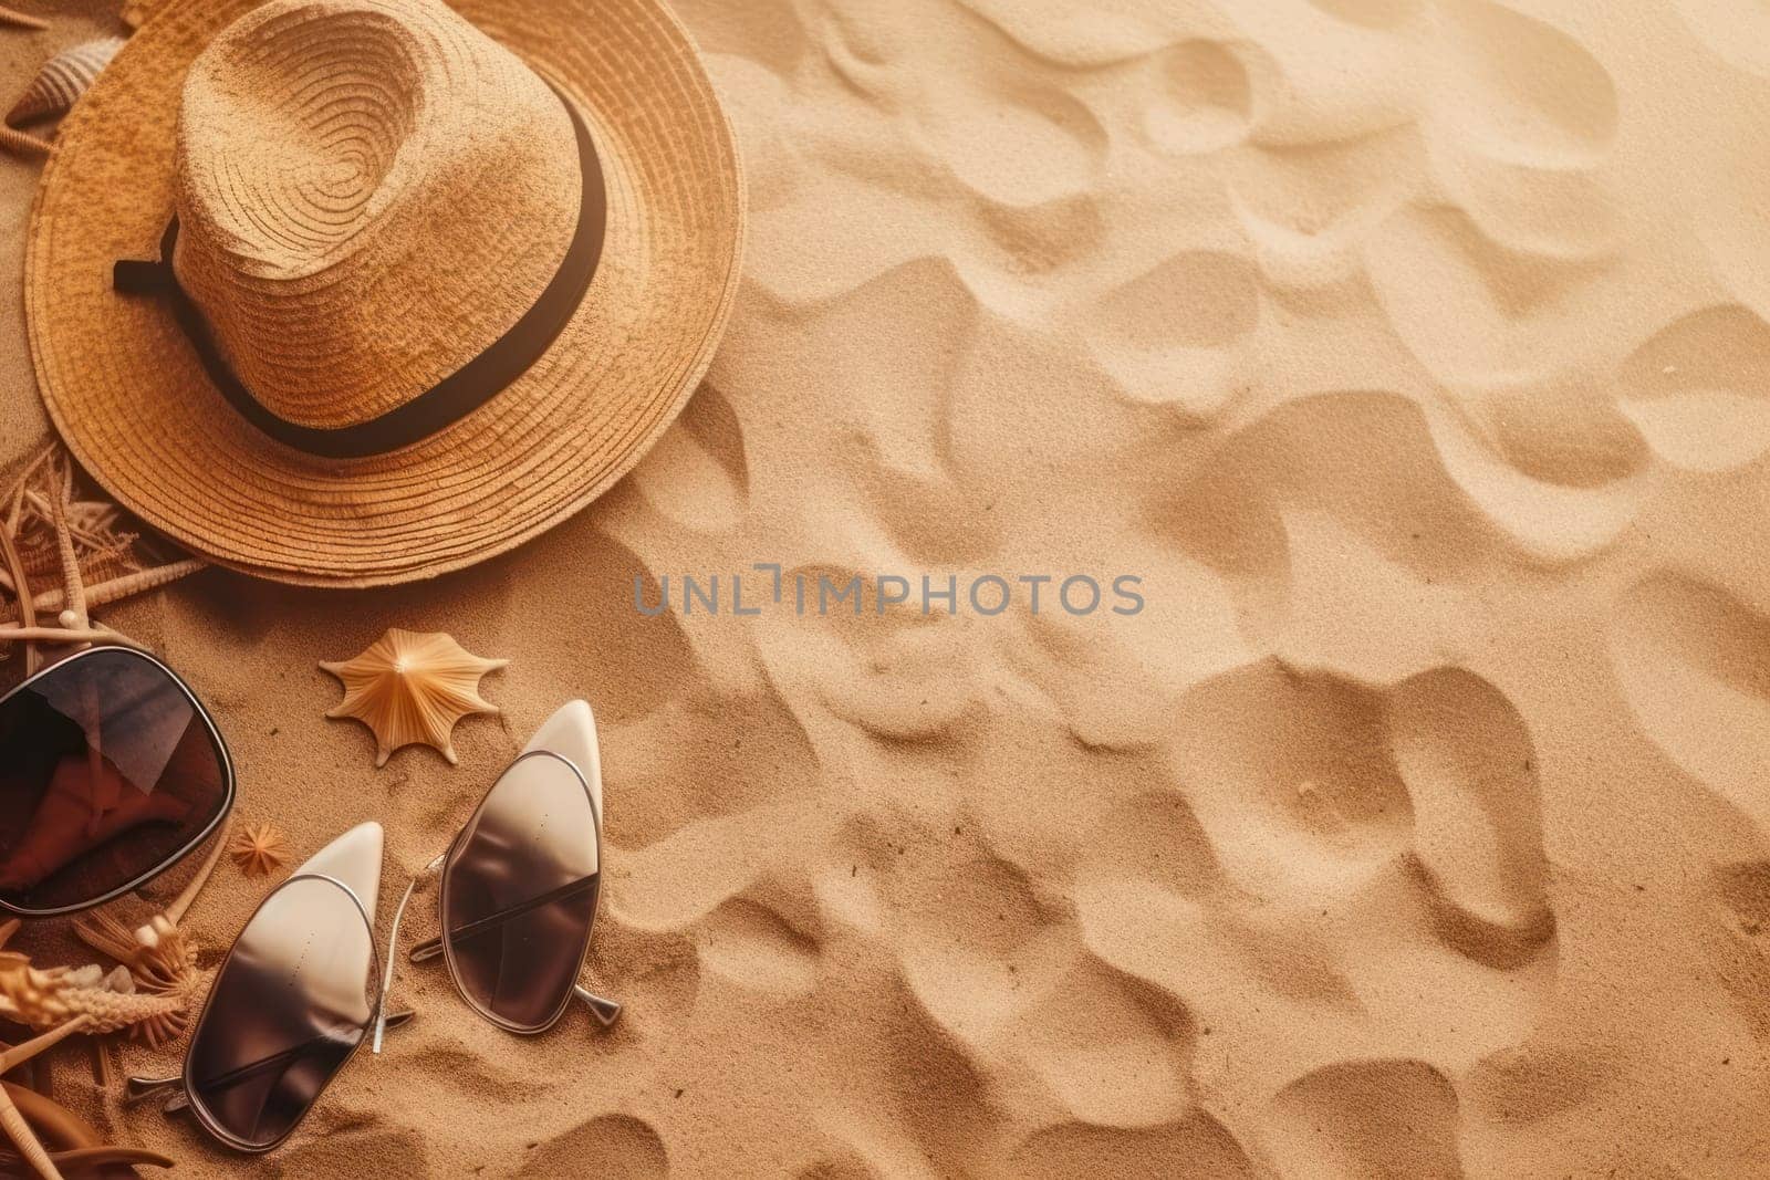
[(442, 948), (462, 996), (513, 1031), (572, 998), (596, 916), (596, 814), (582, 775), (526, 754), (499, 777), (442, 869)]

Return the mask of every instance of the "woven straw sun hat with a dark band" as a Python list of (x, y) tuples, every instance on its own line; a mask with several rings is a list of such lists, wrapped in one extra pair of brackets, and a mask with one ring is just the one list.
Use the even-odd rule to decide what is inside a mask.
[(62, 124), (25, 262), (42, 398), (219, 564), (370, 586), (508, 550), (712, 359), (743, 189), (683, 28), (451, 2), (168, 0)]

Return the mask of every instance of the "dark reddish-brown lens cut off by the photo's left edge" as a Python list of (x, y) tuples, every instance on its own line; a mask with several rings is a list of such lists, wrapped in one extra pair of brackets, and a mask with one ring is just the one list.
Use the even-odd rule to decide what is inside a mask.
[(227, 757), (189, 692), (122, 647), (0, 702), (0, 900), (92, 904), (168, 867), (219, 819)]

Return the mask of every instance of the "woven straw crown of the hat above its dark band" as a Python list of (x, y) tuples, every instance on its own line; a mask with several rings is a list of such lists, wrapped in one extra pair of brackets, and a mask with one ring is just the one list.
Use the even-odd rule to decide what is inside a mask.
[(271, 0), (184, 81), (173, 267), (266, 409), (350, 426), (535, 304), (581, 186), (559, 97), (439, 0)]

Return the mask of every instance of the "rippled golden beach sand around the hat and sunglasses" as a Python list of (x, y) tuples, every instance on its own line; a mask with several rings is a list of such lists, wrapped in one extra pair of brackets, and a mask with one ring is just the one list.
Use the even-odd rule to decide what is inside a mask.
[[(418, 1019), (266, 1175), (1761, 1175), (1761, 5), (680, 11), (754, 221), (657, 451), (435, 584), (108, 616), (211, 702), (242, 817), (388, 826), (382, 931), (558, 702), (602, 720), (620, 1026), (519, 1040), (404, 966)], [(16, 313), (0, 377), (11, 460)], [(1147, 605), (634, 609), (750, 563)], [(388, 624), (512, 660), (458, 768), (320, 718), (315, 662)], [(223, 867), (211, 959), (262, 890)]]

